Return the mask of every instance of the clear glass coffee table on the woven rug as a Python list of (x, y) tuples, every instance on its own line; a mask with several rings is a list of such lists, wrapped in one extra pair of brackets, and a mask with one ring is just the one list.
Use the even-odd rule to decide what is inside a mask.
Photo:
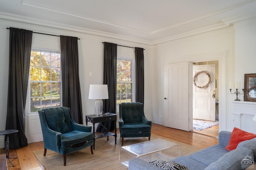
[(119, 161), (127, 167), (131, 158), (141, 158), (149, 162), (151, 160), (167, 161), (178, 156), (180, 156), (180, 145), (160, 138), (119, 149)]

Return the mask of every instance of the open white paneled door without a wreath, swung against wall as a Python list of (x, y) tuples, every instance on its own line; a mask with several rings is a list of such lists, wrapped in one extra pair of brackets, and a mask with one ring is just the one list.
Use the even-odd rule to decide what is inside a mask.
[[(168, 64), (164, 68), (164, 126), (190, 131), (189, 66)], [(192, 68), (191, 68), (192, 69)], [(192, 76), (192, 74), (191, 74)], [(192, 126), (192, 123), (191, 123)]]

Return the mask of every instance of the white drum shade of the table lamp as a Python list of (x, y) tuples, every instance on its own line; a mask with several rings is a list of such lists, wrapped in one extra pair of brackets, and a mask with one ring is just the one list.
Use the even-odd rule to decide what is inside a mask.
[(90, 84), (89, 99), (108, 99), (108, 85)]

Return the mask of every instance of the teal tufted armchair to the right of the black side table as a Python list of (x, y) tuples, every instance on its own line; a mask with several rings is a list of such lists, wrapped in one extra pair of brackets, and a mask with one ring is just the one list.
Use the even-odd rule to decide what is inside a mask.
[(119, 118), (122, 146), (126, 137), (148, 137), (150, 141), (152, 121), (145, 117), (142, 103), (119, 104)]

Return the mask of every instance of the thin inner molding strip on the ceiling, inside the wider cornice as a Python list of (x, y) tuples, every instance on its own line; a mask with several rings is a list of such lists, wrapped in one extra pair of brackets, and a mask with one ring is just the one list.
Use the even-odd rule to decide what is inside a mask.
[(73, 14), (73, 13), (70, 13), (70, 12), (65, 12), (65, 11), (62, 11), (62, 10), (57, 10), (57, 9), (54, 9), (54, 8), (49, 8), (49, 7), (46, 7), (46, 6), (40, 6), (40, 5), (37, 5), (37, 4), (32, 4), (30, 2), (26, 2), (26, 0), (22, 0), (21, 4), (22, 5), (26, 5), (26, 6), (31, 6), (31, 7), (34, 7), (34, 8), (39, 8), (39, 9), (42, 9), (42, 10), (48, 10), (48, 11), (52, 11), (52, 12), (56, 12), (56, 13), (60, 13), (60, 14), (68, 15), (68, 16), (73, 16), (73, 17), (76, 17), (76, 18), (81, 18), (81, 19), (84, 19), (84, 20), (94, 21), (94, 22), (103, 23), (103, 24), (106, 24), (106, 25), (112, 25), (112, 26), (115, 26), (115, 27), (130, 29), (130, 30), (133, 30), (133, 31), (138, 31), (138, 32), (141, 32), (141, 33), (146, 33), (146, 34), (154, 35), (156, 33), (160, 33), (162, 31), (166, 31), (168, 29), (179, 27), (179, 26), (187, 24), (187, 23), (191, 23), (191, 22), (194, 22), (194, 21), (197, 21), (197, 20), (201, 20), (201, 19), (210, 17), (210, 16), (214, 16), (214, 15), (220, 14), (222, 12), (227, 12), (227, 11), (230, 11), (230, 10), (234, 10), (234, 9), (239, 8), (241, 6), (244, 6), (246, 4), (250, 4), (251, 2), (254, 2), (254, 1), (255, 0), (245, 0), (245, 1), (240, 2), (240, 3), (236, 4), (236, 5), (233, 5), (233, 6), (229, 7), (229, 8), (225, 8), (223, 10), (212, 12), (212, 13), (206, 14), (204, 16), (193, 18), (191, 20), (180, 22), (180, 23), (177, 23), (177, 24), (174, 24), (174, 25), (170, 25), (170, 26), (164, 27), (162, 29), (157, 29), (157, 30), (151, 31), (151, 32), (150, 31), (140, 30), (140, 29), (135, 29), (135, 28), (132, 28), (132, 27), (127, 27), (127, 26), (124, 26), (124, 25), (118, 25), (118, 24), (107, 22), (107, 21), (103, 21), (103, 20), (97, 20), (97, 19), (94, 19), (94, 18), (89, 18), (89, 17), (86, 17), (86, 16), (81, 16), (81, 15), (78, 15), (78, 14)]

